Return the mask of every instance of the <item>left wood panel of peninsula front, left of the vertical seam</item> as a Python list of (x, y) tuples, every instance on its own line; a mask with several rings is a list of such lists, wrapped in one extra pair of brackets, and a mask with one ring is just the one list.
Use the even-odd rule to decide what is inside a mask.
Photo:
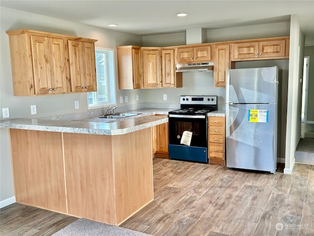
[(66, 213), (61, 133), (10, 129), (18, 203)]

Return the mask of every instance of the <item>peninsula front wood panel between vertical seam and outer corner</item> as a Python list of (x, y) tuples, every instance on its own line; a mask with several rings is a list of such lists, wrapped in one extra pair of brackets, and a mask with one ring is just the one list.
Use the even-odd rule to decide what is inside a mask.
[(63, 135), (68, 214), (115, 225), (111, 136)]

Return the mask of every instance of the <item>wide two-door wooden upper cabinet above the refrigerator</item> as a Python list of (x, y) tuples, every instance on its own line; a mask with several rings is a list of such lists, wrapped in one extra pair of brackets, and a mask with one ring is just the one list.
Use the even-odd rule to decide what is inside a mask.
[(231, 60), (284, 59), (289, 57), (287, 47), (287, 38), (232, 43)]

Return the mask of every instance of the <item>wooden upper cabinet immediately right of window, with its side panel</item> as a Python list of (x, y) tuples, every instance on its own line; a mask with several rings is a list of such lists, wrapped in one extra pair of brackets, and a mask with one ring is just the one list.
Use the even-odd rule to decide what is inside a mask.
[(119, 89), (140, 89), (140, 48), (137, 46), (119, 46), (118, 77)]

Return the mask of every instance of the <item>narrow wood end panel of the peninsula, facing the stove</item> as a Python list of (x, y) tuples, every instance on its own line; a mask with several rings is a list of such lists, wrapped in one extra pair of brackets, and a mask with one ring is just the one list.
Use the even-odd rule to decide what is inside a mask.
[(151, 129), (112, 136), (118, 225), (153, 201)]

